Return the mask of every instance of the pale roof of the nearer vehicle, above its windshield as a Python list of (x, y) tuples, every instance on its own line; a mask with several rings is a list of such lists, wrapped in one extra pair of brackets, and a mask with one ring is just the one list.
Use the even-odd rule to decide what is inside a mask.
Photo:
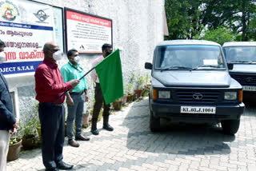
[(171, 40), (163, 41), (158, 44), (158, 46), (174, 46), (174, 45), (210, 45), (210, 46), (220, 46), (216, 42), (203, 41), (203, 40)]

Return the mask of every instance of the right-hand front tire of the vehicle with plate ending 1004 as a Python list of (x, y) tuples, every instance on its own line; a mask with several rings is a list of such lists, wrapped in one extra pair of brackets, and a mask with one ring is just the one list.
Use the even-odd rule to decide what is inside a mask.
[(226, 134), (234, 135), (238, 132), (240, 119), (222, 121), (222, 130)]

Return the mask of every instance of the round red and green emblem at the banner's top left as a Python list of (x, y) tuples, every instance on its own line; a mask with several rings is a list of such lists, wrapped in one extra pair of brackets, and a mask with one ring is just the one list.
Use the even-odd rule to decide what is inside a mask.
[(14, 3), (6, 1), (0, 3), (0, 13), (7, 21), (14, 21), (19, 16), (18, 7)]

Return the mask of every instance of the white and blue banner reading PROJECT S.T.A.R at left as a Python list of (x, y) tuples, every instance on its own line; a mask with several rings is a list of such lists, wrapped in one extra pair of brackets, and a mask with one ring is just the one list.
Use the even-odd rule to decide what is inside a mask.
[(54, 41), (53, 7), (25, 0), (0, 0), (0, 38), (6, 44), (2, 74), (34, 72), (42, 47)]

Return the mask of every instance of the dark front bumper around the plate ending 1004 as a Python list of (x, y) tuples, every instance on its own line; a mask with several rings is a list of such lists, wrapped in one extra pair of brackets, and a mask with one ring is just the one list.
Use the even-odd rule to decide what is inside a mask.
[(239, 105), (207, 105), (209, 107), (216, 107), (216, 113), (180, 113), (181, 106), (186, 105), (158, 103), (150, 100), (150, 109), (154, 117), (168, 118), (171, 121), (219, 122), (223, 120), (236, 120), (240, 118), (245, 109), (244, 103)]

